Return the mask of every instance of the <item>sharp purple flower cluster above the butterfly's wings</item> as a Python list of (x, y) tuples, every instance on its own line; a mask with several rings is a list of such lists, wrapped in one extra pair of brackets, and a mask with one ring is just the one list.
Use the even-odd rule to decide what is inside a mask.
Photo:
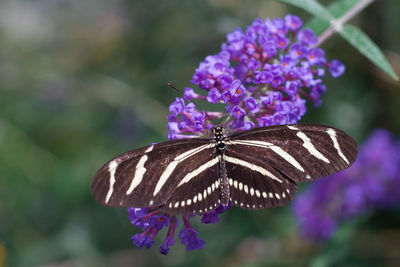
[(338, 77), (345, 67), (338, 60), (328, 62), (324, 50), (314, 47), (318, 37), (302, 25), (298, 17), (287, 15), (255, 19), (245, 31), (229, 33), (221, 51), (207, 56), (191, 80), (206, 93), (188, 87), (170, 105), (168, 138), (208, 136), (212, 120), (222, 115), (198, 111), (185, 100), (225, 104), (225, 128), (232, 131), (296, 123), (306, 112), (306, 99), (320, 105), (325, 70)]

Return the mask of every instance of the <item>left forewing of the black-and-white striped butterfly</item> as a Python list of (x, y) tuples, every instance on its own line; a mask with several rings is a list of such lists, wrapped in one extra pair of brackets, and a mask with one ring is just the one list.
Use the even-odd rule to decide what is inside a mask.
[(92, 194), (99, 203), (114, 207), (161, 207), (177, 195), (186, 200), (178, 193), (184, 184), (180, 183), (212, 155), (215, 148), (208, 139), (173, 140), (132, 150), (97, 172)]

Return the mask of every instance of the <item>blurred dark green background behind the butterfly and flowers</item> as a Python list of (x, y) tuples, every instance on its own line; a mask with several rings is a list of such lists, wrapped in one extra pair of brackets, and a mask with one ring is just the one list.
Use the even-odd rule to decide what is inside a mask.
[[(287, 13), (310, 19), (265, 0), (2, 0), (0, 267), (399, 265), (398, 211), (365, 216), (317, 245), (301, 239), (290, 207), (234, 208), (216, 225), (197, 221), (205, 249), (186, 253), (177, 244), (165, 257), (163, 233), (152, 249), (137, 249), (126, 211), (90, 194), (93, 175), (111, 157), (166, 140), (168, 105), (178, 96), (167, 82), (189, 86), (227, 33)], [(398, 14), (397, 0), (376, 1), (351, 23), (399, 74)], [(399, 83), (338, 36), (323, 48), (347, 71), (327, 77), (323, 105), (310, 106), (303, 121), (341, 128), (359, 142), (376, 127), (399, 137)]]

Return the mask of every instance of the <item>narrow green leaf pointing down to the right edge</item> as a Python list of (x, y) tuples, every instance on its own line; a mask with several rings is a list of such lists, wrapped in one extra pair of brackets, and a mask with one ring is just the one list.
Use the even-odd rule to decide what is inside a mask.
[(386, 60), (379, 47), (360, 29), (355, 26), (345, 25), (339, 34), (354, 46), (361, 54), (366, 56), (392, 79), (399, 80), (392, 66)]

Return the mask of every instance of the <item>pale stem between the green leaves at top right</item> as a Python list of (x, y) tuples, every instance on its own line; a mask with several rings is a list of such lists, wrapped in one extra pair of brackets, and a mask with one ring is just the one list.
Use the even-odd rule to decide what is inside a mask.
[(355, 4), (349, 11), (347, 11), (342, 17), (338, 19), (332, 19), (330, 21), (330, 26), (326, 29), (318, 38), (318, 42), (315, 46), (320, 46), (323, 42), (325, 42), (329, 37), (331, 37), (335, 32), (340, 32), (343, 28), (343, 25), (346, 24), (351, 18), (361, 12), (364, 8), (366, 8), (369, 4), (371, 4), (374, 0), (361, 0), (357, 4)]

